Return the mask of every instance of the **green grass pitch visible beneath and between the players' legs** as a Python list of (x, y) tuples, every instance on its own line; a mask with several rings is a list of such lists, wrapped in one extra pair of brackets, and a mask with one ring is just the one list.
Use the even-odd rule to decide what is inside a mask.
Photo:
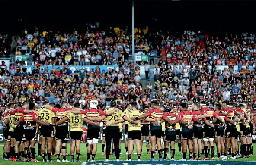
[[(1, 144), (1, 145), (3, 145), (3, 144)], [(178, 149), (178, 143), (176, 143), (175, 146), (176, 146), (175, 159), (176, 159), (176, 160), (179, 160), (179, 159), (182, 158), (182, 155), (179, 155), (179, 154), (178, 154), (178, 151), (179, 151), (179, 149)], [(253, 155), (254, 155), (254, 156), (253, 156), (253, 157), (250, 157), (250, 158), (248, 158), (248, 159), (232, 159), (231, 161), (256, 161), (256, 144), (253, 144), (253, 146), (254, 146), (254, 149), (253, 149)], [(136, 150), (135, 148), (136, 148), (136, 146), (134, 146), (134, 151)], [(120, 156), (120, 160), (126, 160), (128, 156), (125, 155), (125, 144), (124, 144), (124, 143), (122, 143), (121, 151), (122, 151), (122, 153), (123, 153), (124, 155), (121, 155), (121, 156)], [(216, 148), (215, 148), (215, 151), (216, 151)], [(36, 153), (38, 153), (38, 152), (37, 152), (37, 145), (36, 145)], [(68, 143), (68, 145), (67, 145), (67, 153), (69, 153), (69, 143)], [(143, 153), (144, 153), (144, 154), (141, 155), (141, 159), (142, 159), (142, 160), (149, 160), (149, 159), (150, 159), (150, 155), (147, 155), (147, 154), (146, 154), (146, 153), (147, 153), (147, 148), (146, 148), (145, 143), (143, 144)], [(85, 143), (81, 143), (81, 154), (83, 154), (84, 156), (80, 156), (80, 160), (83, 161), (83, 162), (86, 161), (87, 156), (86, 156), (86, 144), (85, 144)], [(202, 155), (201, 158), (202, 158), (203, 156), (204, 156), (204, 155)], [(1, 146), (1, 157), (3, 157), (3, 146)], [(215, 155), (215, 157), (216, 157), (216, 155)], [(23, 158), (22, 158), (22, 159), (23, 159)], [(42, 157), (38, 157), (37, 159), (38, 159), (39, 161), (41, 161), (41, 162), (37, 162), (38, 165), (45, 164), (45, 163), (42, 162)], [(56, 156), (52, 157), (52, 159), (53, 159), (53, 160), (56, 160)], [(137, 160), (137, 156), (136, 156), (136, 155), (132, 155), (131, 159), (132, 159), (132, 160)], [(158, 155), (155, 156), (155, 159), (158, 159)], [(62, 156), (61, 156), (61, 160), (62, 160)], [(71, 157), (70, 157), (70, 156), (67, 156), (67, 160), (70, 161), (70, 160), (71, 160)], [(96, 161), (103, 161), (103, 160), (105, 160), (105, 156), (102, 156), (102, 155), (101, 155), (101, 143), (98, 143), (97, 155), (96, 155), (95, 160), (96, 160)], [(114, 156), (114, 155), (111, 155), (111, 156), (109, 157), (109, 160), (115, 160), (115, 156)], [(168, 160), (169, 160), (169, 159), (168, 159)], [(230, 161), (230, 159), (228, 159), (228, 161)], [(28, 162), (28, 164), (29, 164), (29, 163), (33, 163), (33, 162)], [(53, 162), (53, 163), (50, 162), (50, 164), (54, 164), (54, 163), (56, 163), (56, 162)], [(3, 161), (3, 160), (1, 159), (1, 165), (21, 165), (21, 164), (23, 165), (23, 164), (25, 164), (25, 163), (24, 163), (24, 162)], [(68, 164), (68, 163), (61, 163), (61, 164)], [(81, 164), (81, 163), (76, 163), (76, 164)]]

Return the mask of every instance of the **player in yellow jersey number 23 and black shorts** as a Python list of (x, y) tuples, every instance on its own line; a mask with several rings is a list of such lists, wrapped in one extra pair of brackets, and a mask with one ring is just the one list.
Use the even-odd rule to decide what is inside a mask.
[[(49, 102), (45, 101), (44, 105), (48, 105)], [(52, 107), (55, 105), (51, 104)], [(42, 108), (38, 110), (38, 118), (42, 122), (51, 123), (51, 125), (42, 125), (40, 128), (40, 138), (41, 138), (41, 154), (43, 157), (43, 162), (52, 162), (51, 160), (51, 150), (52, 150), (52, 141), (56, 133), (55, 128), (55, 119), (56, 115), (50, 109)], [(39, 125), (37, 126), (39, 129)], [(47, 159), (45, 159), (45, 144), (47, 140)]]

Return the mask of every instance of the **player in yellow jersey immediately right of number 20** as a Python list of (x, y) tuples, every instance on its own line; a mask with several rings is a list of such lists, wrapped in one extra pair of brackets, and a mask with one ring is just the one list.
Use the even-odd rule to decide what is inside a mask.
[(125, 121), (125, 119), (129, 119), (128, 121), (128, 159), (126, 161), (131, 161), (131, 155), (133, 152), (133, 146), (134, 146), (134, 140), (136, 143), (136, 148), (137, 148), (137, 158), (138, 161), (141, 161), (141, 154), (140, 154), (140, 150), (141, 150), (141, 124), (140, 121), (133, 121), (130, 118), (132, 117), (137, 117), (142, 115), (142, 112), (140, 110), (137, 110), (137, 102), (136, 101), (132, 101), (130, 104), (130, 109), (126, 112), (126, 116), (128, 118), (122, 118), (118, 121), (110, 121), (109, 123), (111, 124), (118, 124), (118, 123), (122, 123)]

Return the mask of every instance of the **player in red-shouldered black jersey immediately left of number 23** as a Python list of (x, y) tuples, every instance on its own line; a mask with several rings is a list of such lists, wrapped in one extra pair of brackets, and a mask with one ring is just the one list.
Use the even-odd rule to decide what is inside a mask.
[[(35, 109), (35, 103), (29, 103), (29, 110), (34, 110)], [(26, 144), (25, 144), (25, 159), (24, 162), (39, 162), (37, 159), (35, 159), (35, 143), (37, 141), (37, 124), (41, 125), (50, 125), (49, 122), (43, 122), (38, 119), (38, 115), (34, 112), (26, 113), (22, 116), (22, 118), (16, 122), (16, 125), (14, 128), (16, 128), (19, 124), (22, 122), (26, 123), (26, 130), (25, 130), (25, 138), (26, 138)], [(28, 159), (28, 151), (29, 151), (29, 146), (31, 150), (31, 160)]]

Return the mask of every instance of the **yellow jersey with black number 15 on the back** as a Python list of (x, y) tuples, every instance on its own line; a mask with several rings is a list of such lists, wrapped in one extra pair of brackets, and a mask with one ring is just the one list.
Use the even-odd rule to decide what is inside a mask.
[(86, 115), (68, 113), (65, 117), (70, 122), (70, 131), (83, 131), (83, 118), (86, 118)]

